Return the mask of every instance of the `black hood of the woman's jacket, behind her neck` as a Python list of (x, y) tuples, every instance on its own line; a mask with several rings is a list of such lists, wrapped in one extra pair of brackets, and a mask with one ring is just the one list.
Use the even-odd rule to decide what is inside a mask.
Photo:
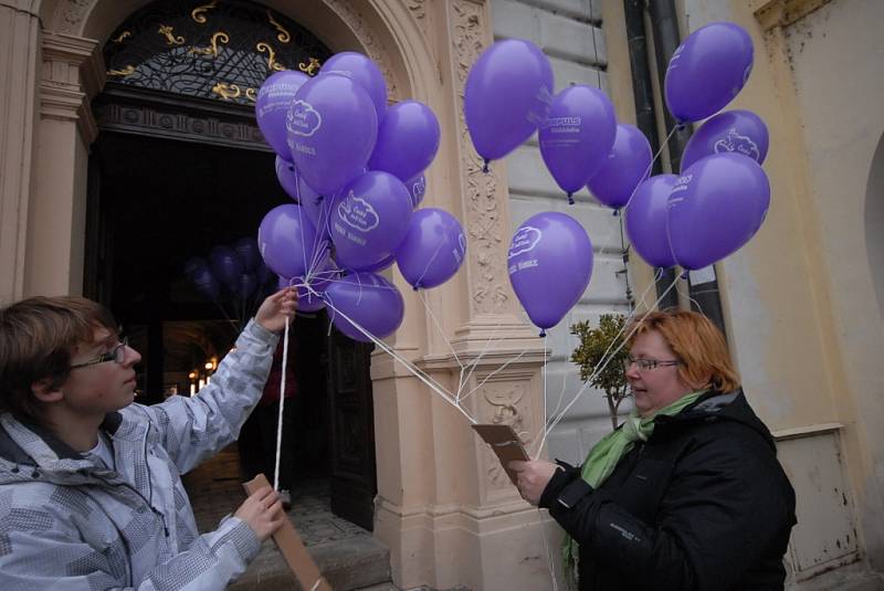
[(665, 432), (667, 429), (676, 429), (699, 422), (734, 421), (740, 423), (758, 433), (770, 447), (776, 452), (774, 436), (770, 430), (761, 422), (755, 411), (746, 400), (743, 389), (738, 388), (733, 392), (718, 392), (711, 390), (699, 397), (696, 402), (684, 409), (674, 416), (661, 415), (654, 419), (656, 426), (654, 433)]

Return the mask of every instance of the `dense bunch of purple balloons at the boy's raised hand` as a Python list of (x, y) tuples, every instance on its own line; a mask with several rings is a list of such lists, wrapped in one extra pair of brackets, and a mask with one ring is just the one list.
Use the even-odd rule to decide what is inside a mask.
[(255, 113), (295, 201), (261, 222), (264, 262), (280, 285), (297, 286), (299, 309), (329, 308), (356, 340), (392, 334), (404, 300), (378, 273), (396, 263), (414, 289), (427, 289), (451, 278), (466, 254), (453, 215), (418, 209), (439, 149), (435, 115), (417, 101), (387, 106), (380, 68), (355, 52), (333, 55), (315, 77), (273, 74)]

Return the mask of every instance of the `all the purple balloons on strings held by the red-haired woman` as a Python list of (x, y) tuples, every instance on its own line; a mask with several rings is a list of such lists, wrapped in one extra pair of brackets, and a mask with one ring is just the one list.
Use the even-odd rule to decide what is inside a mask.
[[(691, 34), (666, 72), (666, 105), (678, 124), (704, 119), (727, 105), (748, 80), (753, 53), (749, 34), (734, 23), (712, 23)], [(602, 92), (570, 85), (552, 93), (549, 61), (529, 41), (498, 41), (482, 53), (466, 81), (464, 112), (486, 167), (537, 131), (544, 162), (569, 202), (587, 187), (599, 202), (615, 211), (625, 208), (632, 246), (653, 266), (707, 266), (760, 228), (770, 202), (760, 167), (768, 134), (754, 113), (730, 110), (709, 118), (685, 149), (681, 177), (649, 179), (653, 155), (648, 138), (617, 123)], [(549, 328), (589, 285), (591, 242), (569, 215), (539, 213), (514, 234), (508, 272), (532, 321)]]

